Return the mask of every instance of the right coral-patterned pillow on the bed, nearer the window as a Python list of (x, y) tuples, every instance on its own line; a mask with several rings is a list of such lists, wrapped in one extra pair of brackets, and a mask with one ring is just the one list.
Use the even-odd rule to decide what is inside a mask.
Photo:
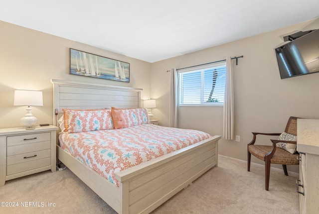
[(126, 128), (133, 125), (151, 123), (148, 111), (145, 108), (115, 108), (111, 107), (114, 128)]

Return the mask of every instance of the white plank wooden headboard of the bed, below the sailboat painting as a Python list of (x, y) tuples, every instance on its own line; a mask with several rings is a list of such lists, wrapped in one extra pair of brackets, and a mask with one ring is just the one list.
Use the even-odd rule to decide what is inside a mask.
[[(66, 80), (51, 80), (53, 84), (53, 114), (58, 117), (63, 108), (103, 109), (109, 107), (141, 107), (143, 89), (109, 86), (103, 84), (81, 83)], [(56, 124), (56, 119), (53, 121)]]

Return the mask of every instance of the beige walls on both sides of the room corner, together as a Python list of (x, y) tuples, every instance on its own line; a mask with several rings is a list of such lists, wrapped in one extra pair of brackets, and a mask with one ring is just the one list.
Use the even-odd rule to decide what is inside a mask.
[[(244, 55), (234, 73), (235, 135), (240, 135), (241, 141), (221, 139), (219, 153), (246, 160), (252, 131), (283, 131), (291, 115), (319, 118), (319, 73), (281, 80), (274, 52), (275, 47), (284, 43), (282, 36), (317, 28), (319, 19), (151, 64), (0, 21), (0, 128), (19, 126), (19, 118), (25, 113), (25, 107), (13, 106), (16, 89), (43, 91), (44, 106), (33, 107), (32, 112), (38, 123), (52, 123), (50, 79), (142, 88), (142, 99), (157, 99), (157, 108), (152, 112), (160, 119), (160, 125), (168, 126), (170, 73), (167, 70), (220, 60), (227, 55)], [(131, 82), (69, 75), (69, 48), (130, 63)], [(221, 135), (222, 107), (179, 107), (178, 110), (180, 128)], [(256, 158), (253, 161), (263, 163)], [(297, 167), (288, 170), (298, 172)]]

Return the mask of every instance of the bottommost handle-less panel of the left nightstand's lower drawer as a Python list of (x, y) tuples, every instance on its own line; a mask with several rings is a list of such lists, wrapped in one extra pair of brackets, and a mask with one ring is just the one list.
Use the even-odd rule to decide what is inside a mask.
[(37, 160), (31, 160), (31, 161), (26, 161), (23, 163), (18, 163), (18, 164), (13, 164), (13, 165), (8, 165), (6, 167), (6, 175), (12, 175), (15, 173), (20, 173), (20, 172), (25, 172), (28, 170), (40, 168), (40, 167), (45, 167), (45, 166), (50, 166), (51, 165), (51, 158), (41, 158)]

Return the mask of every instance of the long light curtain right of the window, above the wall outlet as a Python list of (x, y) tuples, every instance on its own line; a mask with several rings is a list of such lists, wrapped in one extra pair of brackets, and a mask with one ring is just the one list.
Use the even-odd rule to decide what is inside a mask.
[(230, 56), (226, 57), (226, 86), (223, 109), (223, 138), (234, 138), (234, 84), (233, 84), (233, 61)]

